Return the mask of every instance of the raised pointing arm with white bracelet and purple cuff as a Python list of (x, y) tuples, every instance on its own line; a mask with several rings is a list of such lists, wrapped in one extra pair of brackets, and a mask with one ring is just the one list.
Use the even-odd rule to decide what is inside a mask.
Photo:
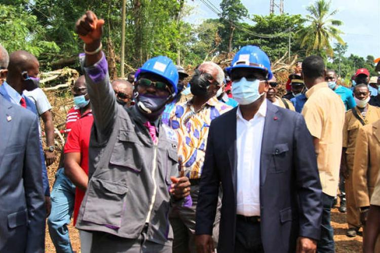
[(75, 31), (85, 43), (85, 59), (82, 66), (85, 70), (98, 142), (105, 142), (109, 137), (118, 108), (109, 82), (107, 60), (101, 50), (103, 24), (104, 20), (99, 20), (91, 11), (87, 11), (75, 24)]

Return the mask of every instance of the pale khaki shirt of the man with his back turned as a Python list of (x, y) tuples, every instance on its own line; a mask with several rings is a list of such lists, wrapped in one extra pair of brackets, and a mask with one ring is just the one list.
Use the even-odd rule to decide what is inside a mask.
[(326, 82), (318, 83), (306, 92), (302, 115), (312, 136), (319, 139), (316, 147), (322, 191), (335, 196), (345, 123), (345, 105)]

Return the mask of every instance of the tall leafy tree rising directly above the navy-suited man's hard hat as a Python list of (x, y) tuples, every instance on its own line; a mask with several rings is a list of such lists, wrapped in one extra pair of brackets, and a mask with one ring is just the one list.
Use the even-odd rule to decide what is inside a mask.
[[(233, 36), (236, 25), (242, 18), (248, 17), (248, 10), (240, 0), (222, 0), (220, 3), (222, 13), (220, 22), (223, 24), (222, 38), (228, 38), (227, 52), (231, 53), (233, 48)], [(222, 44), (223, 45), (223, 44)], [(225, 43), (224, 43), (225, 45)]]

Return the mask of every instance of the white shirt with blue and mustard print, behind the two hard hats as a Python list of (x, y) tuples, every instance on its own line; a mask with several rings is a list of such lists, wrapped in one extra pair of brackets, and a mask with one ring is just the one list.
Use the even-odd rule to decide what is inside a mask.
[(231, 110), (232, 107), (212, 97), (202, 109), (195, 112), (192, 102), (193, 99), (176, 104), (170, 114), (169, 126), (178, 135), (180, 176), (199, 179), (205, 160), (211, 120)]

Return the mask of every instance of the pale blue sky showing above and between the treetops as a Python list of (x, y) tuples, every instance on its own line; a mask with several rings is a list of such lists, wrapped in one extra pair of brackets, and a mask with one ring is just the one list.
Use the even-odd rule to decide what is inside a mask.
[[(209, 1), (220, 10), (221, 0)], [(270, 0), (241, 0), (241, 2), (250, 15), (269, 14)], [(313, 3), (314, 1), (309, 0), (284, 0), (284, 12), (305, 16), (308, 14), (306, 7)], [(217, 15), (200, 0), (188, 0), (187, 5), (193, 7), (192, 14), (185, 19), (187, 22), (200, 24), (204, 19), (217, 18)], [(334, 19), (344, 23), (339, 29), (344, 32), (341, 38), (348, 44), (346, 55), (380, 57), (380, 0), (332, 0), (331, 10), (336, 9), (338, 13)], [(244, 21), (250, 23), (249, 20)]]

